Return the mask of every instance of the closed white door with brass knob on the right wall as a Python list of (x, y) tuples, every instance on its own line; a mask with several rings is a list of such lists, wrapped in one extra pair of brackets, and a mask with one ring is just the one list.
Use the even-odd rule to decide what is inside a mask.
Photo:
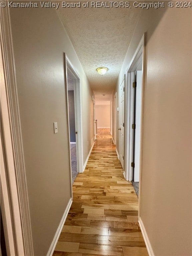
[(124, 169), (124, 107), (125, 106), (125, 80), (120, 85), (120, 109), (119, 109), (119, 160)]

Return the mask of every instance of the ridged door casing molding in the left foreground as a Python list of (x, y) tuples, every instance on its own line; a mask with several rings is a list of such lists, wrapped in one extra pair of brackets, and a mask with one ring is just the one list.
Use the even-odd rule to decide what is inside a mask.
[[(21, 214), (21, 228), (23, 233), (25, 255), (34, 255), (29, 211), (28, 190), (26, 181), (21, 121), (17, 95), (15, 60), (13, 51), (12, 31), (9, 8), (1, 8), (1, 46), (3, 55), (3, 71), (7, 87), (7, 100), (11, 126), (11, 139), (18, 186), (19, 210)], [(14, 202), (16, 204), (16, 202)]]

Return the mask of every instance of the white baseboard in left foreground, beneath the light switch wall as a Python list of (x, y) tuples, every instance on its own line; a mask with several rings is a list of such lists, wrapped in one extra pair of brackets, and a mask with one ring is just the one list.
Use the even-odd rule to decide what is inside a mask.
[(48, 253), (47, 253), (47, 256), (52, 256), (52, 255), (53, 255), (53, 252), (54, 252), (55, 247), (56, 247), (56, 245), (57, 245), (57, 242), (58, 242), (58, 240), (59, 240), (59, 236), (60, 236), (60, 234), (61, 234), (63, 225), (64, 225), (65, 220), (66, 220), (66, 218), (67, 218), (67, 215), (68, 215), (68, 213), (69, 213), (71, 204), (72, 204), (72, 198), (69, 199), (69, 202), (68, 202), (68, 204), (67, 204), (67, 207), (66, 207), (66, 209), (65, 209), (65, 212), (64, 212), (63, 217), (62, 217), (62, 219), (61, 219), (61, 222), (60, 222), (60, 224), (59, 224), (59, 227), (58, 227), (58, 229), (57, 229), (57, 231), (56, 231), (56, 233), (55, 233), (55, 236), (54, 236), (54, 238), (53, 238), (53, 241), (52, 241), (52, 243), (51, 243), (51, 246), (50, 246), (50, 248), (49, 248), (49, 251), (48, 251)]

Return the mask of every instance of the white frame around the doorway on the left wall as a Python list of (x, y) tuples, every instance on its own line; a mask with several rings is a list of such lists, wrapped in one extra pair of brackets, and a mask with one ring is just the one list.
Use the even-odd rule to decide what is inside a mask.
[[(76, 135), (76, 147), (77, 147), (77, 169), (79, 173), (83, 172), (83, 135), (82, 135), (82, 113), (81, 113), (81, 87), (80, 87), (80, 76), (73, 67), (67, 55), (64, 53), (65, 63), (65, 88), (66, 88), (66, 101), (67, 101), (67, 119), (68, 119), (68, 137), (70, 146), (70, 130), (69, 130), (69, 111), (68, 111), (68, 88), (67, 88), (67, 69), (71, 71), (75, 77), (75, 90), (74, 90), (74, 102), (75, 102), (75, 123), (77, 126)], [(69, 147), (70, 148), (70, 147)], [(70, 163), (71, 163), (71, 152), (70, 152)]]

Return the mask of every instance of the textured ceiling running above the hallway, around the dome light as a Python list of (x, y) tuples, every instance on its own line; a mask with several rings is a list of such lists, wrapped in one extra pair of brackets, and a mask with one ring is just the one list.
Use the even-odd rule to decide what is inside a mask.
[[(81, 6), (83, 2), (87, 1), (81, 1)], [(60, 4), (57, 12), (96, 99), (109, 100), (139, 18), (139, 8), (62, 8)], [(103, 76), (96, 72), (101, 66), (109, 69)]]

